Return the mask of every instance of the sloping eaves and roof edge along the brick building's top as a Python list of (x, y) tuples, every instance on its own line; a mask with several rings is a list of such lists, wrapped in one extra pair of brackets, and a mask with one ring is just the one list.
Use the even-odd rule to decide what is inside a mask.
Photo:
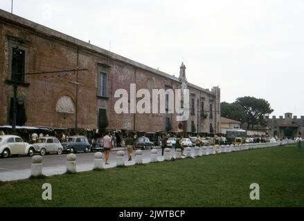
[[(62, 32), (58, 32), (57, 30), (53, 30), (51, 28), (48, 28), (46, 26), (42, 26), (39, 23), (35, 23), (34, 21), (30, 21), (28, 19), (24, 19), (23, 17), (19, 17), (18, 15), (14, 15), (10, 12), (6, 12), (5, 10), (0, 9), (0, 19), (3, 19), (4, 21), (8, 21), (10, 23), (15, 23), (18, 26), (24, 26), (24, 28), (28, 28), (30, 30), (33, 30), (34, 32), (38, 32), (42, 35), (46, 35), (46, 37), (55, 37), (56, 39), (59, 39), (60, 41), (66, 41), (69, 44), (73, 44), (74, 46), (84, 48), (85, 50), (91, 50), (93, 52), (97, 52), (98, 54), (114, 59), (116, 61), (123, 62), (125, 64), (129, 64), (131, 66), (134, 66), (136, 68), (141, 68), (143, 70), (150, 71), (151, 73), (154, 73), (156, 75), (160, 75), (161, 77), (166, 77), (168, 79), (171, 79), (172, 81), (176, 81), (178, 83), (182, 83), (179, 78), (173, 77), (172, 75), (169, 75), (167, 73), (164, 73), (160, 70), (156, 70), (154, 68), (151, 68), (149, 66), (146, 66), (145, 64), (141, 64), (137, 61), (133, 61), (131, 59), (128, 59), (127, 57), (123, 57), (121, 55), (118, 55), (114, 52), (110, 52), (109, 50), (105, 50), (103, 48), (100, 48), (98, 46), (94, 46), (93, 44), (89, 44), (85, 41), (82, 41), (80, 39), (76, 39), (75, 37), (71, 37), (70, 35), (66, 35)], [(196, 86), (194, 84), (190, 84), (187, 82), (187, 85), (191, 88), (201, 90), (204, 93), (208, 93), (210, 95), (215, 95), (211, 90), (201, 88), (199, 86)]]

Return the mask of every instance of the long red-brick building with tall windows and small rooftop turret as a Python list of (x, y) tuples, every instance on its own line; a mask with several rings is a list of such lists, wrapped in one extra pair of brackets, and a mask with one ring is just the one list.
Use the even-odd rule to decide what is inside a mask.
[[(190, 84), (184, 64), (174, 77), (0, 10), (0, 126), (12, 121), (15, 75), (17, 125), (221, 132), (220, 88)], [(177, 122), (175, 113), (116, 113), (114, 93), (120, 88), (129, 93), (130, 84), (149, 91), (188, 88), (189, 119)]]

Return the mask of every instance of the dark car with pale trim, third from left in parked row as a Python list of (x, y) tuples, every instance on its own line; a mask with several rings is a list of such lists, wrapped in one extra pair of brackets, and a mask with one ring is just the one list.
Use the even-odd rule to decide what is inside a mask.
[(76, 153), (83, 151), (88, 153), (91, 151), (89, 141), (84, 136), (71, 136), (66, 138), (66, 142), (62, 144), (63, 151)]

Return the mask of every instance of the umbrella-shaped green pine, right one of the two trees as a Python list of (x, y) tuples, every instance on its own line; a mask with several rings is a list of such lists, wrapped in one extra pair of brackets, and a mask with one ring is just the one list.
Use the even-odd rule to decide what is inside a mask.
[(265, 126), (265, 114), (270, 114), (274, 111), (265, 99), (258, 99), (256, 97), (239, 97), (236, 99), (235, 104), (239, 104), (244, 108), (247, 128), (250, 126), (253, 128), (255, 124)]

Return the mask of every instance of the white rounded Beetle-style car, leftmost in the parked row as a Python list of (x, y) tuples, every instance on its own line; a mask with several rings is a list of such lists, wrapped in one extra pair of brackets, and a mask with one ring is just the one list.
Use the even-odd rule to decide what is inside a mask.
[(34, 146), (24, 142), (21, 137), (15, 135), (0, 136), (0, 153), (4, 158), (13, 154), (33, 156), (34, 152)]

